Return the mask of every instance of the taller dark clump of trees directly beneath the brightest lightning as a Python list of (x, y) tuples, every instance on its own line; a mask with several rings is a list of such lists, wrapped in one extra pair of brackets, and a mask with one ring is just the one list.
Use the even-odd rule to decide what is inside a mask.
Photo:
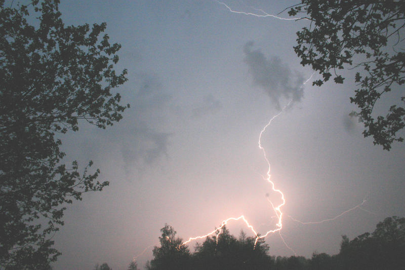
[(195, 247), (191, 254), (183, 241), (176, 238), (174, 229), (165, 225), (160, 230), (160, 247), (154, 247), (154, 258), (147, 263), (149, 270), (159, 269), (269, 269), (272, 258), (267, 255), (268, 246), (263, 240), (257, 242), (255, 238), (246, 237), (242, 232), (239, 239), (231, 236), (224, 227), (217, 237), (207, 237), (203, 244)]

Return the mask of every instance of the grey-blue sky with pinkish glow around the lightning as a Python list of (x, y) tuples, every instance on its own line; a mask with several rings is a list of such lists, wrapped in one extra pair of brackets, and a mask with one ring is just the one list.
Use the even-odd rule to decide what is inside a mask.
[[(262, 15), (257, 9), (277, 14), (292, 5), (225, 3)], [(261, 141), (271, 179), (286, 198), (286, 243), (306, 257), (336, 254), (341, 235), (352, 239), (373, 232), (387, 216), (405, 216), (405, 144), (383, 151), (348, 118), (355, 109), (353, 71), (344, 73), (344, 85), (312, 87), (316, 74), (302, 85), (312, 70), (299, 64), (293, 46), (307, 21), (232, 13), (210, 0), (70, 0), (60, 10), (66, 24), (107, 22), (110, 41), (122, 45), (116, 68), (127, 68), (129, 81), (118, 92), (131, 108), (111, 128), (82, 125), (62, 137), (65, 161), (85, 166), (93, 160), (110, 185), (66, 210), (53, 238), (62, 252), (55, 269), (103, 262), (125, 269), (146, 249), (137, 257), (143, 267), (165, 223), (183, 239), (242, 214), (260, 234), (276, 228), (267, 199), (278, 204), (280, 196), (263, 180), (268, 167), (258, 139), (290, 101)], [(330, 219), (365, 199), (333, 221), (292, 219)], [(233, 235), (242, 228), (253, 236), (240, 222), (228, 227)], [(271, 255), (294, 255), (278, 234), (266, 243)]]

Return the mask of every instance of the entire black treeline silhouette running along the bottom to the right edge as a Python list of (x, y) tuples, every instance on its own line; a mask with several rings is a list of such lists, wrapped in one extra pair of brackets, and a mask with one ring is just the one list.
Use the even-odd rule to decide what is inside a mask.
[(377, 224), (373, 233), (365, 233), (349, 240), (342, 236), (340, 252), (336, 255), (313, 253), (303, 256), (281, 257), (269, 254), (269, 246), (241, 231), (236, 238), (224, 227), (218, 239), (207, 237), (190, 252), (183, 240), (176, 237), (168, 224), (161, 230), (160, 246), (153, 248), (153, 259), (147, 270), (347, 270), (347, 269), (405, 269), (405, 218), (387, 217)]

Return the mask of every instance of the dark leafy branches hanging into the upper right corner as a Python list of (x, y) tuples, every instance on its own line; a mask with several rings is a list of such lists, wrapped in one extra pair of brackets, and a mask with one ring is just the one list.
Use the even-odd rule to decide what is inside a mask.
[[(310, 26), (297, 32), (295, 52), (302, 65), (310, 65), (322, 75), (314, 85), (331, 77), (344, 79), (340, 69), (362, 69), (355, 75), (358, 89), (350, 101), (359, 111), (352, 112), (365, 125), (363, 135), (373, 136), (374, 144), (389, 150), (394, 141), (403, 141), (405, 96), (390, 106), (385, 116), (373, 115), (378, 99), (405, 82), (404, 0), (301, 0), (289, 15), (310, 20)], [(303, 15), (301, 15), (303, 14)]]

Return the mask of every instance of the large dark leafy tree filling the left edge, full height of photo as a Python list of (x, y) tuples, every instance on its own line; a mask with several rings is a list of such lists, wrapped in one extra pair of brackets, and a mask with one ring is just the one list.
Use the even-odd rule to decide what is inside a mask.
[(51, 236), (66, 203), (101, 190), (99, 171), (61, 164), (57, 132), (79, 120), (105, 128), (129, 105), (111, 90), (119, 44), (100, 36), (106, 24), (65, 26), (59, 0), (27, 5), (0, 0), (0, 268), (46, 269), (60, 253)]

